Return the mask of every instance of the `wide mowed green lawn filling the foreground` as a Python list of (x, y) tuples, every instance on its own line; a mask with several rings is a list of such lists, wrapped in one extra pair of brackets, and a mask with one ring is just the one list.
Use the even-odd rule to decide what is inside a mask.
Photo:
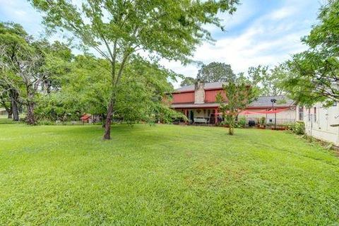
[(235, 132), (0, 124), (0, 225), (338, 225), (338, 157)]

